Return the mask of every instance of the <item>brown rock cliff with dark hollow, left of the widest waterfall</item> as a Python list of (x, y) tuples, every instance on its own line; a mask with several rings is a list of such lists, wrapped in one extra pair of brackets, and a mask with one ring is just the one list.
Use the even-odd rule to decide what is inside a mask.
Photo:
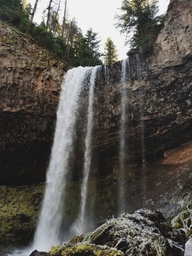
[(45, 179), (66, 65), (0, 23), (1, 185)]

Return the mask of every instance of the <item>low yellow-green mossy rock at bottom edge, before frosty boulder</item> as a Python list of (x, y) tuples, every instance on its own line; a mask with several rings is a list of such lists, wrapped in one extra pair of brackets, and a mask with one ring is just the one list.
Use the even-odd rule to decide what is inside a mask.
[(49, 256), (124, 256), (124, 253), (108, 246), (99, 246), (90, 243), (64, 243), (62, 246), (53, 246)]

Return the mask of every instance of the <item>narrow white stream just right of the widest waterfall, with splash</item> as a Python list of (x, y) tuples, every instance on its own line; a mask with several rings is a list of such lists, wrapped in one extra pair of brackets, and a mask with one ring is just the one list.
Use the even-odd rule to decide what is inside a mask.
[(77, 236), (91, 231), (91, 223), (86, 218), (86, 202), (87, 202), (87, 190), (88, 190), (88, 178), (91, 167), (91, 144), (92, 144), (92, 130), (93, 130), (93, 91), (97, 72), (102, 66), (96, 66), (92, 68), (89, 86), (89, 105), (87, 113), (87, 131), (85, 139), (85, 152), (84, 152), (84, 167), (83, 167), (83, 182), (81, 185), (81, 204), (80, 214), (78, 219), (74, 222), (71, 230)]

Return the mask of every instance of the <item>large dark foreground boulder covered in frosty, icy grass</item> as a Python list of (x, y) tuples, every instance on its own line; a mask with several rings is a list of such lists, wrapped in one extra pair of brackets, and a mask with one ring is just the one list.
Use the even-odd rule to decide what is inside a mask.
[[(115, 247), (126, 255), (183, 255), (184, 241), (161, 212), (150, 209), (135, 211), (110, 219), (84, 236), (84, 242)], [(161, 254), (159, 254), (161, 253)]]

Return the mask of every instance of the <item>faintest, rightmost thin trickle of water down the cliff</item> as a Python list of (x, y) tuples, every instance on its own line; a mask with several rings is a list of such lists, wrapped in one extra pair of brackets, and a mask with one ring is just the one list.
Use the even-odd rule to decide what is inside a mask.
[[(136, 54), (136, 62), (137, 62), (137, 75), (138, 80), (141, 79), (141, 62), (139, 54)], [(143, 193), (146, 193), (146, 164), (145, 164), (145, 125), (143, 121), (143, 90), (140, 87), (139, 91), (139, 113), (140, 113), (140, 124), (141, 124), (141, 150), (142, 150), (142, 170), (143, 170)]]

